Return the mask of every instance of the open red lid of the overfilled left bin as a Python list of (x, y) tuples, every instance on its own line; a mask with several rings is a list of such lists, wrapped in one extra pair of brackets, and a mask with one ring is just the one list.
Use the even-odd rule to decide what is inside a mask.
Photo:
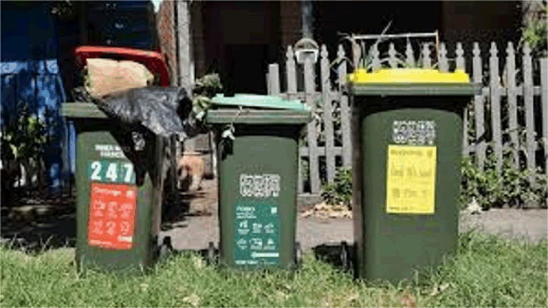
[(136, 61), (146, 66), (152, 74), (160, 76), (160, 85), (169, 86), (169, 71), (164, 56), (158, 52), (142, 49), (109, 47), (109, 46), (79, 46), (74, 49), (76, 64), (84, 67), (89, 58), (114, 58)]

